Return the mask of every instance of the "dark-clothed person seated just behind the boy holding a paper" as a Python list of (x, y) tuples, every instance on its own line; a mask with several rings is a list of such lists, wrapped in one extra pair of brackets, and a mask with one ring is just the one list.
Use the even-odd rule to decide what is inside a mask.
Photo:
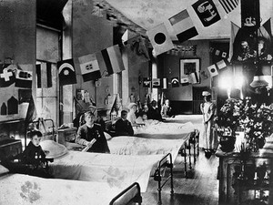
[(126, 119), (127, 111), (121, 111), (121, 118), (116, 121), (116, 136), (133, 136), (134, 129), (132, 128), (131, 123)]

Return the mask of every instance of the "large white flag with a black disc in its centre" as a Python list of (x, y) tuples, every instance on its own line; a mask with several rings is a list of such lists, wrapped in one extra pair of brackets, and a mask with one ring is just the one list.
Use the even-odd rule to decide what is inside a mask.
[(164, 23), (148, 30), (147, 36), (154, 47), (157, 56), (174, 48), (173, 42), (170, 36), (168, 36), (167, 28)]

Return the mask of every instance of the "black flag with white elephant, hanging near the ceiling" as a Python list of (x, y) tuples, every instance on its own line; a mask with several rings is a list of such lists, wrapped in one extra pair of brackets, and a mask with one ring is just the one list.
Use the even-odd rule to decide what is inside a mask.
[(198, 0), (192, 7), (205, 27), (211, 26), (221, 19), (212, 0)]

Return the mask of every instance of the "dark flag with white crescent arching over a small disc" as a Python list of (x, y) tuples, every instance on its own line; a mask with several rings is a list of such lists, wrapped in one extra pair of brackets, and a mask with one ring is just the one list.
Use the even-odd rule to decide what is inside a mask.
[(76, 71), (73, 59), (57, 62), (60, 86), (76, 84)]

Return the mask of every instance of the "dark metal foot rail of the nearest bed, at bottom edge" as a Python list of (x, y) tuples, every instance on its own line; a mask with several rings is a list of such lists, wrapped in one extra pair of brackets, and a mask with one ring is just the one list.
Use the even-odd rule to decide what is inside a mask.
[(142, 203), (141, 191), (140, 191), (140, 186), (137, 182), (134, 182), (129, 187), (127, 187), (125, 190), (121, 191), (118, 195), (116, 195), (116, 197), (110, 201), (109, 205), (123, 205), (120, 202), (118, 202), (118, 199), (120, 199), (123, 195), (126, 194), (127, 191), (132, 190), (134, 187), (136, 187), (137, 194), (132, 200), (128, 201), (128, 204), (134, 202), (134, 203), (141, 205), (141, 203)]

